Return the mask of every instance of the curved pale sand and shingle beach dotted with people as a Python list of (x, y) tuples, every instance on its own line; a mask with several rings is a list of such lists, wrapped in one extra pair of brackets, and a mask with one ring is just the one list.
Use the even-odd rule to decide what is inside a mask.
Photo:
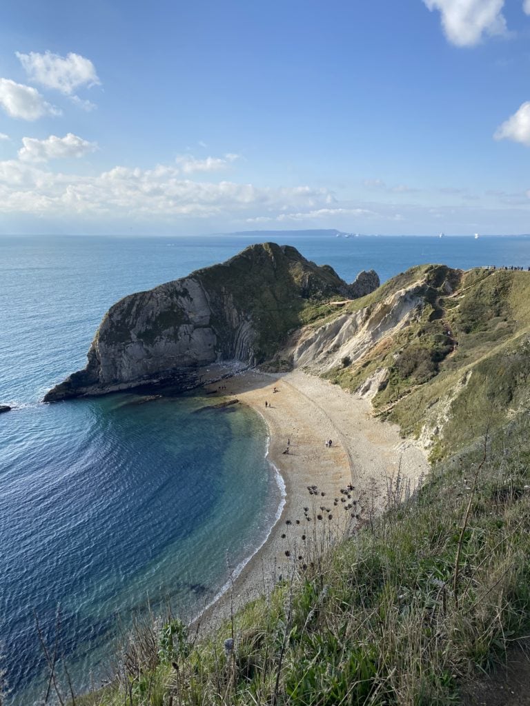
[[(404, 441), (396, 425), (375, 419), (370, 402), (322, 378), (301, 371), (245, 371), (225, 378), (222, 384), (223, 397), (237, 398), (264, 417), (269, 428), (269, 460), (283, 477), (286, 496), (281, 517), (264, 546), (243, 568), (232, 589), (201, 619), (201, 626), (208, 630), (227, 618), (231, 608), (268, 592), (281, 575), (292, 572), (302, 553), (302, 537), (312, 531), (315, 517), (320, 515), (322, 520), (317, 522), (339, 533), (346, 522), (363, 522), (384, 508), (387, 479), (395, 479), (398, 469), (412, 488), (428, 472), (424, 450)], [(326, 446), (330, 439), (331, 447)], [(341, 493), (348, 485), (354, 488), (349, 498)], [(317, 490), (310, 492), (308, 486)], [(352, 518), (353, 514), (359, 519)]]

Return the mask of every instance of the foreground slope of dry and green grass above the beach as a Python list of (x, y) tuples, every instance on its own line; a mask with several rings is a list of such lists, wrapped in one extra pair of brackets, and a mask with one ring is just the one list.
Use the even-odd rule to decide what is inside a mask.
[(162, 649), (171, 621), (137, 634), (115, 688), (78, 703), (457, 703), (459, 680), (529, 628), (529, 431), (512, 424), (435, 467), (416, 493), (398, 475), (381, 517), (353, 532), (343, 511), (338, 544), (310, 498), (307, 538), (273, 592), (184, 650)]

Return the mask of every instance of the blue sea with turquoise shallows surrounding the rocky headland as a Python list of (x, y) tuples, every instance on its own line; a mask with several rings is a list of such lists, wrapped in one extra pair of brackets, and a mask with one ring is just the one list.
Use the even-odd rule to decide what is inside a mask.
[[(201, 391), (43, 404), (81, 369), (118, 299), (253, 242), (295, 246), (351, 282), (412, 265), (530, 266), (530, 237), (0, 237), (0, 681), (42, 702), (41, 642), (76, 690), (99, 686), (134, 616), (189, 619), (232, 585), (277, 521), (284, 489), (264, 420)], [(206, 409), (204, 409), (206, 407)]]

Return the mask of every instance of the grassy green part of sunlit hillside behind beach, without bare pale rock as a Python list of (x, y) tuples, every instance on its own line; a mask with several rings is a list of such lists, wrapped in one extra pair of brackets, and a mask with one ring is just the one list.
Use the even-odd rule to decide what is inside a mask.
[(442, 431), (433, 449), (440, 456), (529, 403), (530, 273), (413, 268), (353, 307), (384, 301), (421, 277), (425, 305), (418, 320), (327, 377), (355, 390), (386, 368), (375, 409), (400, 424), (404, 435)]

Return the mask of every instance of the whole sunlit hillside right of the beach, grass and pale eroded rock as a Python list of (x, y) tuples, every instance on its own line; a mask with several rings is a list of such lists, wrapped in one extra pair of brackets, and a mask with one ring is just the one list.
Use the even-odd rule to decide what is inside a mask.
[(527, 413), (529, 301), (530, 273), (420, 265), (329, 307), (278, 355), (370, 399), (437, 457)]

